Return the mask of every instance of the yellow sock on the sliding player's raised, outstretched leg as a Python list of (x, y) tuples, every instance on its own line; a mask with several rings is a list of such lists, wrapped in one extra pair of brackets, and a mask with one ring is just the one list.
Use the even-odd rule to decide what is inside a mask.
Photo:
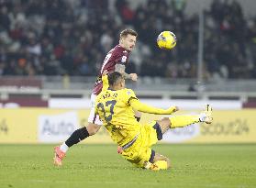
[(199, 122), (199, 116), (198, 115), (188, 115), (188, 116), (172, 116), (170, 117), (171, 121), (171, 128), (174, 127), (185, 127), (194, 123)]

